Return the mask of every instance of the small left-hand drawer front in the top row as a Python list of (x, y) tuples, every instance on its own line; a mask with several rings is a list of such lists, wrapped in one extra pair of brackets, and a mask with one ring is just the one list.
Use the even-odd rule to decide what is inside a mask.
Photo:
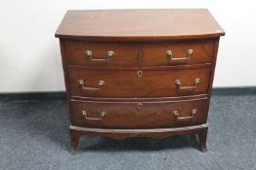
[(128, 44), (65, 44), (68, 64), (84, 66), (137, 66), (137, 49)]

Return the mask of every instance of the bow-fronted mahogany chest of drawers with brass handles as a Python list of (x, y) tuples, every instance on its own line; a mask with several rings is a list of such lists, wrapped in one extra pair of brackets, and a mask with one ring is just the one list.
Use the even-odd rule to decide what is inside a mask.
[(79, 137), (197, 134), (207, 115), (220, 36), (207, 10), (68, 11), (60, 38), (70, 153)]

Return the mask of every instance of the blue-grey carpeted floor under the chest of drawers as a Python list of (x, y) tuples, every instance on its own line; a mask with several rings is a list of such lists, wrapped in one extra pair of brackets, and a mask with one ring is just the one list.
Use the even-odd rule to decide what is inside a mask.
[(208, 152), (194, 136), (83, 137), (70, 155), (64, 101), (0, 103), (0, 169), (256, 169), (256, 95), (213, 96)]

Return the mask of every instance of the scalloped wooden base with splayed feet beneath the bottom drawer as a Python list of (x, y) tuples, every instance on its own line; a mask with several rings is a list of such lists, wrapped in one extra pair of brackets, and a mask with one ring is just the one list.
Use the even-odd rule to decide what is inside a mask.
[[(113, 139), (125, 139), (128, 137), (149, 137), (153, 139), (163, 139), (172, 135), (188, 135), (198, 134), (198, 149), (206, 152), (206, 136), (201, 136), (207, 133), (208, 125), (200, 124), (185, 127), (172, 127), (172, 128), (154, 128), (154, 129), (107, 129), (107, 128), (90, 128), (90, 127), (77, 127), (70, 125), (70, 153), (74, 154), (78, 146), (78, 140), (81, 136), (105, 136)], [(198, 140), (199, 140), (198, 139)], [(204, 143), (203, 143), (204, 142)]]

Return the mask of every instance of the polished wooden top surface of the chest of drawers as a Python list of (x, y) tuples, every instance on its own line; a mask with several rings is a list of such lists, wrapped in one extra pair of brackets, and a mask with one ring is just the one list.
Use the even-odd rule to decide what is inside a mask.
[(67, 11), (56, 37), (86, 41), (169, 41), (225, 32), (206, 9)]

